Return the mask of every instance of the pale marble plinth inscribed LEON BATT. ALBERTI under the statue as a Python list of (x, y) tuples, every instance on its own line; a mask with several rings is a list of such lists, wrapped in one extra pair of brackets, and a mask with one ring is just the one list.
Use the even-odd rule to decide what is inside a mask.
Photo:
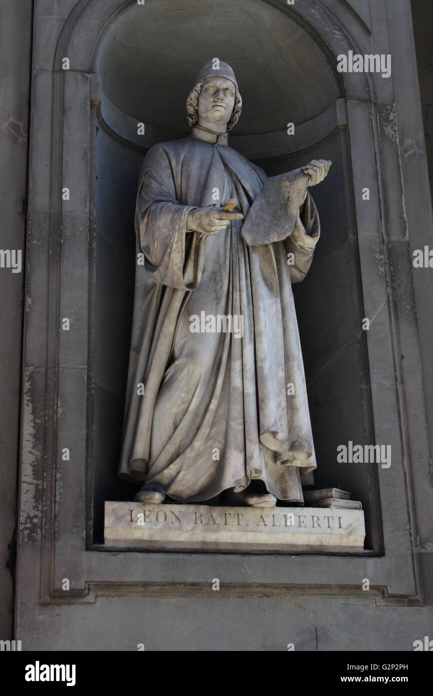
[(357, 553), (363, 510), (105, 503), (108, 548), (223, 553)]

